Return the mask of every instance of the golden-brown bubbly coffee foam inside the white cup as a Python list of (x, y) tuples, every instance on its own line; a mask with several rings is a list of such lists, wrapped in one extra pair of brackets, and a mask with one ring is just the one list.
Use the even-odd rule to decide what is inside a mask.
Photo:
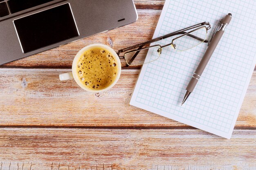
[(110, 86), (118, 72), (115, 57), (101, 48), (85, 51), (77, 62), (76, 73), (79, 81), (92, 90), (101, 90)]

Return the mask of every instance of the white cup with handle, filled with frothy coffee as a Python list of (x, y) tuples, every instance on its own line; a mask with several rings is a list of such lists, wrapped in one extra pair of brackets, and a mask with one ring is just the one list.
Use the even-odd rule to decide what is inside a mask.
[(121, 74), (117, 53), (103, 44), (92, 44), (76, 54), (72, 73), (61, 74), (61, 80), (74, 78), (76, 83), (90, 92), (107, 91), (114, 86)]

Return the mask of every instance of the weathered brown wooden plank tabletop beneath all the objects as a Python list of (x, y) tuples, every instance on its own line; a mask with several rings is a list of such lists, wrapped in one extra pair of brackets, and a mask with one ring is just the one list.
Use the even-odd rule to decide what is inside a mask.
[(256, 168), (256, 70), (230, 140), (129, 106), (140, 67), (91, 94), (60, 82), (84, 46), (115, 51), (153, 36), (164, 0), (136, 0), (137, 22), (0, 66), (0, 170)]

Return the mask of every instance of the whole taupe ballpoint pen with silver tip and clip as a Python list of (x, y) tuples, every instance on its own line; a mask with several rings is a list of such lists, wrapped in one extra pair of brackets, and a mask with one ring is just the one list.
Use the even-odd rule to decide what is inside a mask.
[(216, 28), (213, 31), (213, 35), (211, 36), (211, 39), (209, 41), (208, 48), (205, 51), (204, 56), (202, 57), (202, 60), (199, 63), (198, 67), (196, 68), (195, 73), (193, 74), (188, 86), (186, 87), (186, 93), (184, 95), (182, 104), (184, 104), (186, 99), (193, 92), (195, 85), (198, 83), (198, 80), (200, 79), (204, 71), (204, 68), (207, 66), (207, 63), (209, 62), (211, 55), (213, 54), (213, 51), (216, 49), (216, 46), (218, 45), (226, 26), (229, 24), (232, 18), (231, 16), (232, 16), (231, 13), (228, 13), (224, 18), (219, 20), (217, 26), (220, 25), (220, 28), (218, 29), (218, 31), (216, 31), (216, 28), (217, 28), (216, 26)]

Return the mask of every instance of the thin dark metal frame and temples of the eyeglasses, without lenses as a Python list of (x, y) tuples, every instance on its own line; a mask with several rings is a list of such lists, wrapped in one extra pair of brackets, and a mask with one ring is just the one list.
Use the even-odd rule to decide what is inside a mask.
[[(207, 25), (208, 25), (208, 26), (207, 26)], [(197, 28), (197, 27), (198, 27), (198, 28)], [(209, 29), (211, 29), (211, 24), (210, 24), (209, 22), (201, 22), (200, 24), (195, 24), (195, 25), (193, 25), (193, 26), (189, 26), (189, 27), (186, 27), (186, 28), (184, 28), (184, 29), (175, 31), (175, 32), (173, 32), (173, 33), (168, 33), (168, 34), (166, 34), (166, 35), (162, 35), (162, 36), (160, 36), (160, 37), (157, 37), (157, 38), (154, 38), (154, 39), (152, 39), (152, 40), (146, 41), (146, 42), (144, 42), (144, 43), (137, 44), (137, 45), (134, 45), (134, 46), (127, 47), (127, 48), (125, 48), (125, 49), (118, 50), (117, 55), (118, 55), (118, 57), (119, 57), (120, 59), (124, 59), (124, 60), (126, 61), (125, 55), (126, 55), (127, 53), (132, 53), (132, 52), (135, 52), (135, 51), (136, 51), (136, 53), (132, 56), (132, 58), (130, 59), (130, 61), (129, 61), (129, 62), (126, 61), (126, 67), (128, 67), (128, 66), (129, 66), (128, 63), (131, 64), (131, 63), (133, 62), (133, 60), (135, 59), (135, 57), (138, 55), (138, 53), (139, 53), (141, 50), (149, 49), (149, 48), (154, 47), (154, 46), (160, 46), (160, 47), (161, 47), (161, 48), (160, 48), (160, 54), (161, 54), (162, 48), (164, 48), (164, 47), (166, 47), (166, 46), (171, 45), (171, 47), (172, 47), (173, 49), (175, 49), (175, 44), (173, 44), (173, 41), (176, 40), (176, 39), (178, 39), (178, 38), (181, 38), (181, 37), (183, 37), (183, 36), (185, 36), (185, 35), (188, 35), (188, 36), (190, 36), (190, 37), (192, 37), (192, 38), (195, 38), (195, 39), (197, 39), (197, 40), (201, 40), (201, 41), (202, 41), (202, 38), (199, 38), (199, 37), (197, 37), (197, 36), (195, 36), (195, 35), (192, 35), (192, 34), (189, 34), (189, 33), (193, 32), (193, 31), (196, 31), (196, 30), (198, 30), (198, 29), (201, 29), (201, 28), (203, 28), (203, 27), (206, 27), (206, 33), (207, 33), (207, 31), (208, 31)], [(197, 28), (197, 29), (194, 29), (194, 28)], [(187, 31), (187, 30), (190, 30), (190, 29), (193, 29), (193, 30), (192, 30), (192, 31), (189, 31), (189, 32), (184, 32), (184, 31)], [(152, 45), (152, 46), (148, 46), (148, 47), (143, 48), (143, 46), (145, 46), (146, 44), (151, 44), (151, 43), (153, 43), (153, 42), (157, 42), (157, 41), (163, 40), (163, 39), (165, 39), (165, 38), (169, 38), (169, 37), (171, 37), (171, 36), (179, 35), (179, 34), (183, 34), (183, 35), (178, 36), (178, 37), (176, 37), (176, 38), (173, 38), (171, 43), (166, 44), (166, 45), (164, 45), (164, 46), (161, 46), (160, 44), (156, 44), (156, 45)], [(204, 40), (204, 41), (202, 41), (202, 42), (209, 43), (208, 40)], [(136, 48), (136, 49), (135, 49), (135, 48)], [(138, 49), (137, 49), (137, 48), (138, 48)], [(135, 50), (132, 50), (132, 49), (135, 49)], [(132, 51), (129, 51), (129, 50), (132, 50)], [(120, 53), (123, 53), (123, 52), (126, 52), (126, 53), (124, 53), (124, 56), (120, 56)], [(139, 65), (143, 65), (143, 64), (139, 64)]]

